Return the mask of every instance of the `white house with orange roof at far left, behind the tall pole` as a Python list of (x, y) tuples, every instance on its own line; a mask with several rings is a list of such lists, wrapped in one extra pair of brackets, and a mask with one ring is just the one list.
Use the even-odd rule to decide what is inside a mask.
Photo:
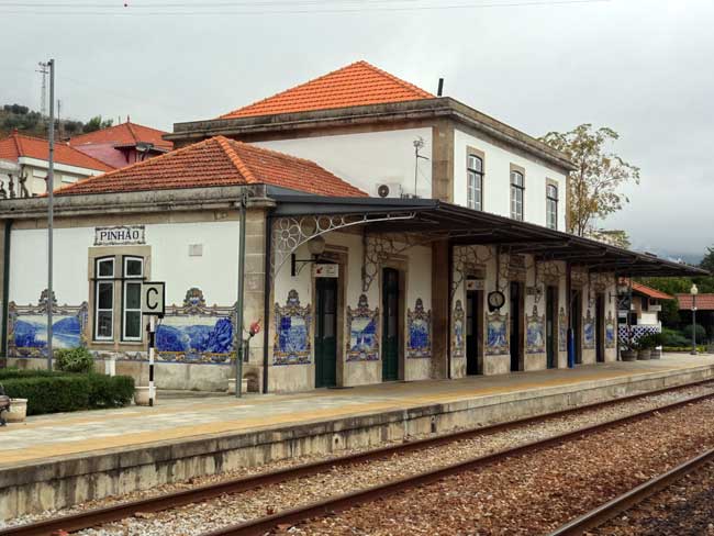
[[(5, 197), (47, 191), (49, 143), (16, 131), (0, 139), (0, 181)], [(114, 169), (66, 143), (55, 144), (55, 188)]]

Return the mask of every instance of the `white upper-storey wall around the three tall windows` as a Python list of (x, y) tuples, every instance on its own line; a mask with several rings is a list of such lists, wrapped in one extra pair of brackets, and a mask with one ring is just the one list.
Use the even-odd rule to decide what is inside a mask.
[(483, 210), (511, 216), (511, 164), (525, 169), (524, 220), (546, 225), (546, 178), (558, 182), (558, 231), (566, 228), (565, 175), (515, 153), (475, 137), (462, 131), (454, 132), (454, 203), (467, 204), (467, 147), (484, 153)]

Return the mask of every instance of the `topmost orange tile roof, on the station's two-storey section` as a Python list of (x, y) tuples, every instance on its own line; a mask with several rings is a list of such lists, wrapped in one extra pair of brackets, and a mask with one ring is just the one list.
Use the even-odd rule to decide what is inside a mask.
[(378, 69), (367, 62), (357, 62), (245, 108), (234, 110), (219, 119), (306, 112), (433, 98), (434, 96), (428, 91)]

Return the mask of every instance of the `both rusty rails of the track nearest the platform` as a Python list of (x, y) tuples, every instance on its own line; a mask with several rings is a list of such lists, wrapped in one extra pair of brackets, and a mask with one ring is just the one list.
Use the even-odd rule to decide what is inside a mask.
[[(657, 391), (650, 391), (647, 393), (629, 395), (616, 400), (598, 402), (598, 403), (588, 404), (588, 405), (573, 407), (569, 410), (562, 410), (549, 414), (521, 418), (517, 421), (512, 421), (512, 422), (506, 422), (506, 423), (501, 423), (501, 424), (495, 424), (490, 426), (483, 426), (479, 428), (458, 431), (449, 434), (428, 437), (425, 439), (419, 439), (419, 440), (403, 443), (399, 445), (391, 445), (391, 446), (371, 449), (367, 451), (350, 454), (338, 458), (320, 460), (311, 464), (290, 467), (287, 469), (280, 469), (276, 471), (254, 474), (250, 477), (227, 480), (227, 481), (217, 482), (209, 485), (202, 485), (190, 490), (167, 493), (155, 498), (147, 498), (147, 499), (142, 499), (138, 501), (132, 501), (127, 503), (120, 503), (112, 506), (105, 506), (105, 507), (80, 512), (67, 516), (60, 516), (60, 517), (49, 518), (46, 521), (41, 521), (41, 522), (31, 523), (26, 525), (20, 525), (20, 526), (9, 527), (5, 529), (0, 529), (0, 536), (9, 536), (9, 535), (44, 536), (44, 535), (52, 535), (53, 533), (57, 533), (59, 531), (72, 533), (85, 528), (90, 528), (107, 523), (111, 523), (114, 521), (132, 517), (138, 513), (145, 514), (150, 512), (160, 512), (160, 511), (179, 507), (187, 504), (200, 503), (202, 501), (214, 499), (224, 494), (239, 493), (256, 488), (261, 488), (261, 487), (267, 487), (270, 484), (283, 482), (287, 480), (293, 480), (301, 477), (308, 477), (321, 472), (327, 472), (335, 467), (347, 467), (364, 461), (384, 459), (393, 455), (402, 455), (415, 450), (423, 450), (435, 446), (442, 446), (442, 445), (459, 442), (461, 439), (476, 437), (479, 435), (492, 434), (495, 432), (527, 426), (531, 424), (546, 422), (549, 420), (554, 420), (567, 415), (582, 413), (589, 410), (598, 410), (601, 407), (622, 404), (624, 402), (628, 402), (637, 399), (655, 397), (662, 393), (673, 392), (673, 391), (683, 390), (683, 389), (698, 387), (698, 386), (705, 386), (709, 383), (712, 383), (712, 381), (711, 380), (699, 381), (685, 386), (679, 386), (677, 388), (667, 388)], [(384, 484), (366, 488), (364, 490), (359, 490), (353, 493), (332, 496), (324, 501), (319, 501), (304, 506), (281, 511), (277, 514), (255, 518), (245, 523), (241, 523), (238, 525), (227, 526), (211, 533), (207, 533), (207, 536), (265, 534), (278, 526), (290, 525), (303, 520), (332, 514), (334, 512), (338, 512), (359, 504), (375, 501), (383, 496), (388, 496), (399, 491), (413, 489), (415, 487), (423, 485), (425, 483), (434, 482), (450, 474), (455, 474), (461, 471), (468, 471), (478, 467), (493, 464), (495, 461), (502, 460), (507, 457), (527, 454), (528, 451), (536, 450), (551, 445), (557, 445), (564, 442), (568, 442), (581, 437), (585, 434), (600, 432), (614, 426), (627, 424), (633, 421), (647, 418), (648, 416), (655, 414), (656, 412), (671, 411), (693, 402), (699, 402), (712, 398), (714, 398), (714, 392), (705, 393), (696, 397), (689, 397), (673, 403), (660, 405), (655, 409), (642, 411), (624, 417), (618, 417), (600, 424), (582, 427), (572, 432), (567, 432), (545, 439), (534, 440), (531, 443), (526, 443), (524, 445), (520, 445), (517, 447), (507, 448), (505, 450), (489, 454), (486, 456), (480, 456), (462, 462), (453, 464), (436, 470), (425, 471), (415, 476), (387, 482)]]

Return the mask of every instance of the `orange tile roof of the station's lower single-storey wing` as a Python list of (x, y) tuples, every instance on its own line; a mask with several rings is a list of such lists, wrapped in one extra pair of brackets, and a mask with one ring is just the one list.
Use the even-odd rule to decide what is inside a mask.
[(223, 136), (80, 180), (60, 196), (272, 185), (319, 196), (366, 197), (317, 164)]

